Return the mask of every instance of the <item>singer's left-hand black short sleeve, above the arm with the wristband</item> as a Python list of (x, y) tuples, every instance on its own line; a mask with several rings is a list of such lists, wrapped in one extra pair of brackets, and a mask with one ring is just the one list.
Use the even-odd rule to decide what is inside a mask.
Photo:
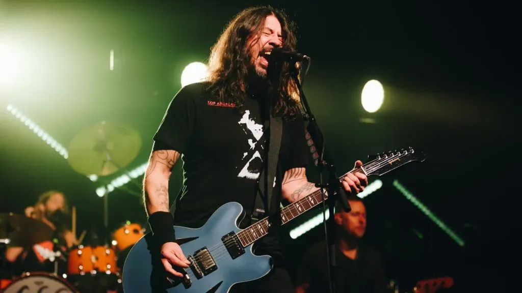
[(175, 150), (183, 153), (195, 123), (195, 99), (201, 95), (199, 84), (189, 84), (176, 93), (153, 137), (153, 151)]

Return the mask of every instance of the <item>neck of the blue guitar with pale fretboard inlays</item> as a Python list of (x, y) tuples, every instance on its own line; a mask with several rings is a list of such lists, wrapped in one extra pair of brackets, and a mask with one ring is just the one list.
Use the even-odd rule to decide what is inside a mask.
[[(364, 164), (361, 167), (354, 168), (350, 172), (339, 177), (339, 180), (342, 180), (349, 173), (365, 173), (369, 174), (367, 170), (371, 168), (375, 168), (376, 162), (369, 162)], [(378, 165), (378, 163), (377, 163)], [(328, 193), (325, 191), (324, 193), (325, 200), (328, 199)], [(281, 225), (284, 225), (290, 222), (295, 217), (313, 209), (313, 207), (317, 206), (319, 203), (323, 202), (323, 194), (320, 189), (310, 193), (308, 196), (301, 198), (298, 201), (295, 201), (286, 207), (281, 209)], [(268, 217), (258, 221), (257, 223), (251, 225), (250, 227), (245, 228), (241, 232), (238, 233), (238, 237), (241, 240), (241, 244), (244, 247), (251, 245), (258, 239), (264, 237), (268, 234), (268, 228), (270, 227), (270, 222), (268, 221)]]

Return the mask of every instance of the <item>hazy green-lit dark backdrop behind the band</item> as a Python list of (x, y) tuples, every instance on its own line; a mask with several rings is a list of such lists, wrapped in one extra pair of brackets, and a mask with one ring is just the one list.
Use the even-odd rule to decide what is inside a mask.
[[(425, 162), (380, 178), (383, 188), (364, 200), (366, 239), (383, 253), (389, 277), (404, 290), (439, 276), (489, 283), (492, 276), (481, 277), (493, 274), (483, 259), (484, 243), (505, 225), (490, 217), (491, 204), (514, 185), (508, 175), (519, 96), (509, 54), (515, 21), (511, 8), (497, 2), (6, 1), (0, 29), (30, 52), (34, 67), (14, 90), (0, 92), (0, 212), (22, 213), (40, 193), (58, 189), (76, 206), (86, 241), (94, 233), (104, 235), (103, 200), (95, 191), (123, 171), (98, 182), (74, 172), (5, 110), (7, 104), (64, 146), (101, 120), (129, 125), (142, 139), (127, 166), (135, 168), (148, 158), (184, 66), (205, 62), (228, 20), (257, 4), (285, 8), (298, 24), (299, 52), (312, 57), (305, 93), (340, 172), (369, 154), (407, 146), (428, 154)], [(386, 94), (383, 108), (372, 115), (360, 103), (370, 79), (381, 81)], [(311, 170), (316, 180), (314, 174)], [(138, 197), (141, 178), (126, 191), (110, 193), (110, 230), (127, 220), (146, 223)], [(459, 247), (402, 196), (394, 179), (464, 237), (466, 246)], [(171, 200), (180, 184), (177, 165)], [(323, 237), (321, 226), (297, 240), (287, 237), (292, 263)]]

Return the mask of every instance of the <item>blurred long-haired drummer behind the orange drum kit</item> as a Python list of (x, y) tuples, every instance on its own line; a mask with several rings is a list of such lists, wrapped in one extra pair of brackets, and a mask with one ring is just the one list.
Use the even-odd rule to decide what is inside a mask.
[[(67, 199), (62, 192), (50, 190), (41, 194), (34, 206), (26, 208), (25, 214), (51, 227), (55, 231), (54, 236), (58, 239), (58, 245), (67, 248), (77, 245), (78, 240), (69, 228)], [(50, 271), (53, 265), (46, 260), (53, 255), (55, 251), (53, 248), (53, 239), (32, 247), (8, 247), (5, 258), (8, 262), (18, 264), (21, 272)]]

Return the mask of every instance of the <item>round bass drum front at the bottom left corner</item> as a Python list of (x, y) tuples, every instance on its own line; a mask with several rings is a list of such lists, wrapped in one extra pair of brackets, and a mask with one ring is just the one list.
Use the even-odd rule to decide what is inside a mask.
[(3, 293), (79, 293), (66, 280), (49, 273), (26, 273), (13, 280)]

